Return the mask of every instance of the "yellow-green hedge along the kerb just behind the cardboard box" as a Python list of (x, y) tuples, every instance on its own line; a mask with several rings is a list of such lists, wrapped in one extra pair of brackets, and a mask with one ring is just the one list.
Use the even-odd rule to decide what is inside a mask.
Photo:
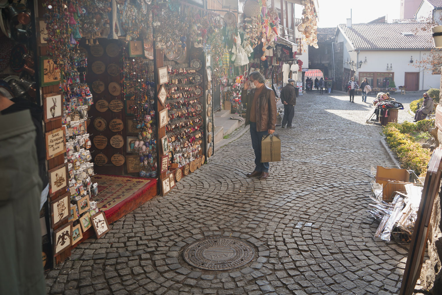
[[(431, 120), (428, 120), (431, 121)], [(409, 129), (409, 123), (405, 124), (404, 130)], [(382, 129), (385, 140), (392, 152), (399, 159), (401, 167), (412, 169), (417, 175), (425, 174), (427, 165), (431, 158), (430, 149), (424, 149), (415, 139), (396, 128), (398, 123), (389, 123)]]

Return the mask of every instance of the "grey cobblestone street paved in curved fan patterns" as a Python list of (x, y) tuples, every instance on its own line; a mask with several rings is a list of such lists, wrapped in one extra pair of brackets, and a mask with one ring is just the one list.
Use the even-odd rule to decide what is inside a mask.
[[(406, 109), (423, 92), (393, 95)], [(282, 161), (267, 180), (249, 133), (219, 149), (165, 197), (156, 196), (46, 273), (48, 294), (397, 294), (408, 248), (373, 238), (370, 166), (391, 165), (366, 124), (373, 112), (341, 92), (297, 98), (295, 129), (277, 127)], [(370, 103), (368, 103), (370, 102)], [(211, 235), (238, 238), (255, 258), (226, 271), (195, 268), (184, 248)]]

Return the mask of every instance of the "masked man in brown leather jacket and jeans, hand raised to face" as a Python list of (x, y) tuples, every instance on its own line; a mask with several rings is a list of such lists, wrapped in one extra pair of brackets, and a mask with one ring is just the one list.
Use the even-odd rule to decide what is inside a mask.
[[(241, 102), (247, 103), (246, 125), (250, 123), (251, 145), (255, 151), (255, 170), (247, 176), (259, 176), (259, 179), (267, 179), (269, 176), (269, 163), (261, 163), (261, 139), (263, 135), (274, 133), (276, 128), (275, 95), (264, 82), (261, 73), (252, 72), (241, 93)], [(247, 93), (249, 88), (251, 91)]]

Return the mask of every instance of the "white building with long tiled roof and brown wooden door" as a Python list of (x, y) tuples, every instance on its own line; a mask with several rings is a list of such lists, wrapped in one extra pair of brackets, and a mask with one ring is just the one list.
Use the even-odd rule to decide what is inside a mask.
[[(428, 1), (428, 0), (424, 0)], [(442, 2), (442, 1), (439, 1)], [(387, 88), (393, 80), (408, 91), (439, 88), (440, 73), (416, 67), (434, 48), (430, 31), (422, 23), (340, 24), (336, 42), (343, 42), (343, 81), (364, 77), (373, 87)]]

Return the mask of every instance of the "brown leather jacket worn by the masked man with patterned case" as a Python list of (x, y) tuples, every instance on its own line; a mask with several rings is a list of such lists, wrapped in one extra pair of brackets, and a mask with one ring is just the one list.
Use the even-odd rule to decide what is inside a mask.
[[(248, 94), (247, 90), (241, 93), (241, 102), (247, 103), (246, 125), (250, 123), (251, 102), (255, 96), (255, 90), (251, 90)], [(264, 85), (261, 94), (256, 102), (256, 131), (275, 130), (276, 126), (276, 99), (271, 88)]]

